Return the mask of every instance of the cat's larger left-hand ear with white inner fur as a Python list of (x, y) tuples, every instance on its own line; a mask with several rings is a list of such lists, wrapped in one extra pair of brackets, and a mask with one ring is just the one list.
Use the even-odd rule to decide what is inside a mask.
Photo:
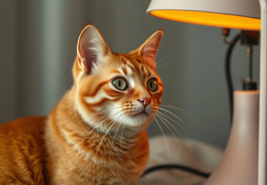
[(77, 62), (82, 73), (89, 74), (94, 62), (101, 62), (109, 54), (105, 40), (93, 25), (87, 25), (81, 31), (77, 44)]

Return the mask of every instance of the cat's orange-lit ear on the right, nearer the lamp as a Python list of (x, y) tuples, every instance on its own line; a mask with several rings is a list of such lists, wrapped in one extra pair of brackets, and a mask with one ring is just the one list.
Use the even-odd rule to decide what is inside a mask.
[(129, 52), (129, 54), (137, 54), (144, 58), (145, 62), (149, 63), (153, 68), (156, 67), (156, 54), (163, 37), (163, 30), (158, 30), (153, 33), (139, 48)]

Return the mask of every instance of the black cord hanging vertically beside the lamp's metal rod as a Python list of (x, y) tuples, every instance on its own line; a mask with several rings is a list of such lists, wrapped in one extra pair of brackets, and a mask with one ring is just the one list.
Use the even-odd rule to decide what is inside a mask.
[(226, 58), (225, 58), (225, 73), (226, 73), (226, 82), (228, 87), (228, 96), (229, 96), (229, 103), (230, 103), (230, 125), (232, 125), (232, 119), (233, 119), (233, 83), (231, 78), (231, 70), (230, 70), (230, 63), (231, 63), (231, 54), (233, 51), (233, 48), (237, 41), (240, 39), (241, 33), (238, 33), (233, 40), (229, 43), (229, 47), (226, 52)]

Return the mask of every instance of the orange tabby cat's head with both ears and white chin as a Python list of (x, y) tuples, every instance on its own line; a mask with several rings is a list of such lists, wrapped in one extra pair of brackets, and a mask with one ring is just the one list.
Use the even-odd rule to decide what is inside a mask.
[[(129, 54), (113, 53), (99, 30), (82, 30), (73, 66), (76, 106), (91, 126), (143, 127), (155, 115), (163, 94), (155, 57), (163, 36), (158, 30)], [(115, 128), (115, 126), (114, 126)]]

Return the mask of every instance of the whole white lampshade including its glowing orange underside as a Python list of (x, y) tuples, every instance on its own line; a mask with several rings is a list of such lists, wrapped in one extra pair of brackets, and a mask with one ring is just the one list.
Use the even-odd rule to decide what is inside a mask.
[(241, 30), (260, 30), (258, 0), (151, 0), (147, 13), (156, 17)]

